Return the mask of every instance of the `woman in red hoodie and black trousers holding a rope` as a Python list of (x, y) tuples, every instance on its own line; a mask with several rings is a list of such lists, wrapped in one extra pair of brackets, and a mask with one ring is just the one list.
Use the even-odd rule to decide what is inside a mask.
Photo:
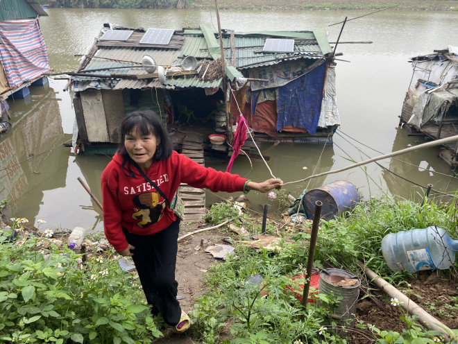
[(121, 124), (121, 145), (101, 175), (105, 235), (122, 256), (132, 256), (153, 315), (178, 332), (189, 317), (176, 300), (176, 253), (180, 218), (170, 200), (184, 182), (216, 191), (280, 189), (280, 179), (261, 183), (216, 171), (172, 149), (158, 115), (137, 110)]

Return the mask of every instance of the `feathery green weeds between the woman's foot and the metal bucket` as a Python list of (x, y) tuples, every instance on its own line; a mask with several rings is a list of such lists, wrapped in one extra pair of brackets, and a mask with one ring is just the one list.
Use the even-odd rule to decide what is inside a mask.
[[(289, 248), (283, 245), (284, 250)], [(298, 243), (294, 248), (300, 246)], [(226, 325), (237, 338), (231, 343), (319, 343), (319, 329), (333, 327), (331, 323), (324, 325), (329, 321), (332, 297), (321, 295), (326, 302), (305, 309), (286, 288), (291, 284), (288, 273), (303, 273), (303, 268), (288, 264), (285, 257), (291, 256), (271, 255), (263, 249), (253, 252), (243, 246), (238, 246), (236, 253), (212, 266), (206, 280), (207, 293), (195, 306), (200, 314), (191, 312), (194, 334), (205, 338), (205, 343), (218, 343), (217, 334)], [(259, 275), (264, 277), (263, 282), (258, 283)], [(209, 317), (214, 320), (208, 321)], [(343, 340), (336, 336), (333, 343)]]

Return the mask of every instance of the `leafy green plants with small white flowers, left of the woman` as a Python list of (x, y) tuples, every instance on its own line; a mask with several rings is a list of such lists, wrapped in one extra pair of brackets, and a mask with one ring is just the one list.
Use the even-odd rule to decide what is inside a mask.
[[(40, 241), (49, 250), (38, 250)], [(139, 284), (113, 255), (85, 264), (81, 257), (52, 239), (20, 246), (0, 238), (2, 343), (134, 344), (162, 335)]]

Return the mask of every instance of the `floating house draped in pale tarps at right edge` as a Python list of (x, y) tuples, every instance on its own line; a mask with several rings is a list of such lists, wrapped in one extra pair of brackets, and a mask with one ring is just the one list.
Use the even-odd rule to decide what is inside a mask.
[[(412, 58), (414, 69), (400, 115), (410, 135), (445, 139), (458, 135), (458, 47)], [(448, 144), (439, 157), (458, 165), (458, 144)]]

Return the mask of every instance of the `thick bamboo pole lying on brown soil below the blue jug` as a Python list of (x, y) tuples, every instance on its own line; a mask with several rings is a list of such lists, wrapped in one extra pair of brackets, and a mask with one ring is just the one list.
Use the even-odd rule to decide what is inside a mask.
[(371, 283), (378, 286), (384, 293), (387, 293), (391, 298), (397, 298), (401, 302), (401, 307), (409, 312), (412, 316), (418, 316), (418, 320), (421, 324), (428, 329), (442, 332), (447, 341), (450, 341), (450, 334), (453, 334), (452, 330), (444, 325), (442, 322), (431, 316), (423, 308), (418, 306), (414, 301), (410, 300), (407, 295), (398, 291), (394, 286), (385, 281), (382, 277), (373, 272), (370, 268), (365, 266), (361, 261), (356, 261), (358, 266), (364, 270), (364, 273), (369, 277)]

